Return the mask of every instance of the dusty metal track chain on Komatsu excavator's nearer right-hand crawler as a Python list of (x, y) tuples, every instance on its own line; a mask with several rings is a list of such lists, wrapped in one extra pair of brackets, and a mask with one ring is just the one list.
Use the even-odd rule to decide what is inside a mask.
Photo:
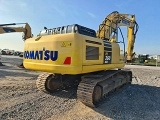
[(84, 103), (89, 107), (97, 107), (100, 104), (100, 102), (102, 102), (102, 100), (104, 100), (110, 92), (116, 90), (117, 88), (114, 88), (110, 92), (103, 94), (99, 103), (94, 104), (93, 92), (94, 92), (95, 86), (98, 85), (99, 82), (102, 82), (104, 80), (109, 80), (109, 78), (114, 77), (114, 75), (116, 75), (119, 72), (121, 71), (114, 71), (114, 72), (109, 71), (108, 73), (105, 73), (105, 74), (102, 73), (100, 75), (84, 76), (77, 89), (78, 100), (80, 100), (82, 103)]

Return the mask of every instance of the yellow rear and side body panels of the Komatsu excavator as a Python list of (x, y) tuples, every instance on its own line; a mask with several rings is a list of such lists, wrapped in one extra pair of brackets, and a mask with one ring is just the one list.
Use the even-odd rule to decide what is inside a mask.
[[(90, 40), (86, 42), (86, 40)], [(86, 46), (99, 48), (98, 60), (86, 60)], [(46, 71), (59, 74), (81, 74), (99, 70), (122, 68), (120, 63), (120, 51), (117, 43), (112, 43), (112, 61), (104, 64), (104, 43), (103, 40), (77, 33), (48, 35), (31, 38), (25, 41), (24, 51), (43, 51), (43, 58), (24, 56), (25, 68), (39, 71)], [(46, 57), (46, 51), (51, 54), (58, 52), (57, 59), (51, 60)], [(28, 53), (30, 54), (30, 53)], [(94, 54), (94, 53), (93, 53)], [(53, 55), (53, 54), (52, 54)], [(71, 58), (71, 64), (64, 64), (67, 57)]]

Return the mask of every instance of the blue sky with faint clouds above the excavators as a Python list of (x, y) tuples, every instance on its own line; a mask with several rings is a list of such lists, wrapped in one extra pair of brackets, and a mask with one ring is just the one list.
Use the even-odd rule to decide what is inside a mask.
[[(46, 26), (70, 24), (98, 30), (113, 11), (135, 14), (139, 24), (134, 51), (160, 54), (160, 0), (0, 0), (0, 24), (27, 22), (33, 35)], [(127, 44), (126, 28), (122, 28)], [(0, 34), (0, 48), (23, 51), (22, 33)]]

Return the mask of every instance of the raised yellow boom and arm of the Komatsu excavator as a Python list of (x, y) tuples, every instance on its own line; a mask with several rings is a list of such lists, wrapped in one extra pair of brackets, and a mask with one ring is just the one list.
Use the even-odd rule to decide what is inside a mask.
[(120, 14), (117, 11), (109, 14), (102, 24), (99, 25), (97, 31), (97, 37), (110, 42), (117, 42), (118, 40), (118, 29), (121, 26), (127, 27), (127, 62), (131, 62), (134, 56), (134, 43), (136, 33), (138, 31), (138, 24), (135, 21), (135, 15)]

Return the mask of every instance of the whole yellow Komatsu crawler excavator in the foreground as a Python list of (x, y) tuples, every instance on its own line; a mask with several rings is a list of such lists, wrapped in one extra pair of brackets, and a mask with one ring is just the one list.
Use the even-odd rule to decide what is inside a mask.
[[(132, 72), (122, 69), (117, 40), (120, 26), (128, 28), (127, 59), (131, 60), (138, 24), (135, 15), (112, 12), (98, 31), (74, 24), (41, 31), (27, 39), (24, 67), (43, 71), (36, 85), (50, 93), (77, 87), (77, 99), (96, 107), (109, 92), (132, 82)], [(125, 53), (125, 51), (124, 51)]]

